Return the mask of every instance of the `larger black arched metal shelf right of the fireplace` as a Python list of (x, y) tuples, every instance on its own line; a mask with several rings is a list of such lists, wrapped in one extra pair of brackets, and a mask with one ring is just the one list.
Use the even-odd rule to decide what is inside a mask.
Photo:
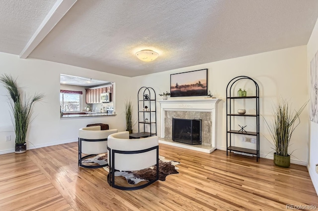
[[(254, 96), (237, 96), (236, 92), (233, 91), (233, 85), (235, 85), (240, 80), (251, 80), (255, 84), (255, 95)], [(237, 114), (235, 112), (234, 101), (238, 99), (244, 99), (245, 103), (255, 103), (255, 110), (256, 114)], [(252, 154), (256, 156), (256, 161), (259, 158), (259, 86), (255, 80), (248, 76), (237, 76), (230, 80), (227, 85), (227, 155), (228, 152), (238, 151), (247, 154)], [(241, 118), (241, 117), (248, 117), (248, 118), (255, 118), (255, 131), (245, 131), (245, 130), (236, 130), (236, 127), (233, 126), (232, 121), (234, 118)], [(247, 135), (247, 136), (254, 136), (256, 141), (256, 149), (252, 148), (243, 148), (233, 145), (232, 138), (236, 135)]]

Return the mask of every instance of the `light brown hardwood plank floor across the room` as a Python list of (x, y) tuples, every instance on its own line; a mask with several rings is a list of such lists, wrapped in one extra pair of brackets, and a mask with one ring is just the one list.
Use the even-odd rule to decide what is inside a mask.
[(102, 168), (79, 168), (76, 142), (0, 155), (0, 211), (318, 210), (305, 166), (164, 144), (159, 154), (179, 161), (179, 174), (136, 191), (110, 187)]

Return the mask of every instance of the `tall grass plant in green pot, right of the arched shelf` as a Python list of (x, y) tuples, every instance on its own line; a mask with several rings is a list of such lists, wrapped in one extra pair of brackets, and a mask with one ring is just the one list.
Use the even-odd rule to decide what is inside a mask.
[[(308, 102), (307, 102), (308, 103)], [(286, 99), (281, 98), (278, 105), (273, 108), (274, 120), (269, 124), (265, 120), (267, 129), (273, 140), (274, 163), (277, 166), (289, 167), (290, 154), (288, 147), (293, 132), (300, 124), (299, 115), (305, 109), (305, 103), (299, 110), (291, 111)]]

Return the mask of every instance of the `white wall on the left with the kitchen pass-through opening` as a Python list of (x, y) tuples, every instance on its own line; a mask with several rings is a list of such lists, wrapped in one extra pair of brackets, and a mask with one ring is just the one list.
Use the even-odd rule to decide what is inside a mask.
[[(19, 59), (16, 55), (0, 53), (0, 74), (3, 73), (17, 77), (19, 85), (24, 87), (27, 95), (33, 95), (35, 92), (43, 92), (46, 95), (42, 102), (35, 104), (35, 119), (27, 136), (28, 148), (77, 141), (79, 128), (87, 124), (105, 123), (109, 124), (110, 129), (126, 130), (124, 100), (131, 95), (130, 89), (126, 88), (130, 86), (131, 78), (37, 59)], [(60, 73), (115, 82), (116, 116), (61, 120)], [(0, 153), (14, 151), (14, 131), (6, 95), (7, 92), (1, 84)], [(11, 135), (11, 141), (5, 141), (7, 135)]]

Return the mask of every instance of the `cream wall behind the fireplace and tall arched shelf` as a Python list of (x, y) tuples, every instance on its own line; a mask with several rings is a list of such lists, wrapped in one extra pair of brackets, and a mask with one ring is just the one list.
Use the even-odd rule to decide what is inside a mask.
[[(260, 87), (260, 114), (270, 120), (272, 118), (272, 105), (277, 103), (279, 97), (284, 97), (291, 101), (293, 108), (300, 108), (308, 99), (309, 91), (307, 87), (307, 48), (299, 46), (294, 48), (282, 49), (278, 51), (266, 52), (256, 55), (250, 55), (235, 59), (229, 59), (214, 63), (202, 64), (193, 67), (169, 70), (160, 73), (134, 77), (135, 93), (141, 86), (153, 87), (157, 94), (170, 91), (170, 74), (208, 69), (208, 90), (212, 94), (222, 99), (218, 116), (218, 148), (226, 149), (226, 86), (228, 82), (239, 75), (246, 75), (258, 83)], [(239, 87), (236, 88), (236, 90)], [(243, 87), (242, 87), (243, 88)], [(248, 89), (248, 92), (252, 92)], [(180, 98), (180, 97), (179, 97)], [(200, 98), (200, 97), (181, 97)], [(161, 99), (157, 96), (157, 99)], [(169, 97), (168, 97), (169, 99)], [(174, 97), (177, 99), (177, 97)], [(158, 111), (160, 108), (157, 104)], [(308, 162), (308, 110), (301, 114), (301, 124), (295, 130), (290, 146), (290, 152), (293, 163), (306, 165)], [(160, 114), (157, 114), (158, 131), (160, 131)], [(260, 153), (265, 156), (271, 152), (271, 144), (265, 137), (269, 138), (269, 133), (264, 125), (263, 119), (260, 119)], [(272, 158), (273, 153), (269, 153), (266, 158)]]

